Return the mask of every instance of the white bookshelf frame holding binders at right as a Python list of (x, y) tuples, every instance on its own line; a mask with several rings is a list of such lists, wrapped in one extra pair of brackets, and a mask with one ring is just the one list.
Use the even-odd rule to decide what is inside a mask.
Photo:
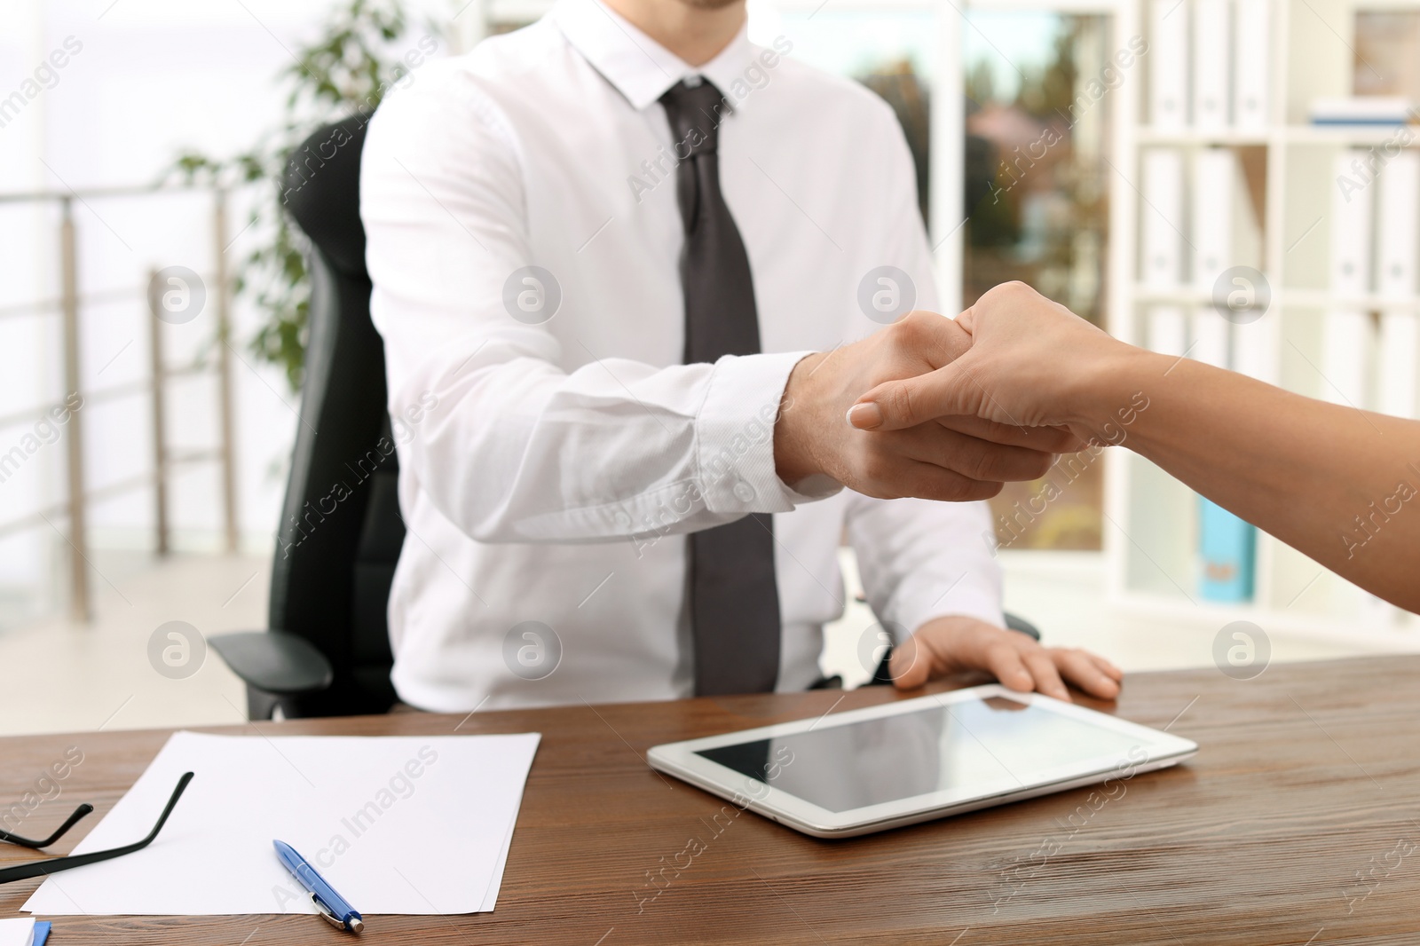
[[(1189, 3), (1180, 13), (1187, 11)], [(1265, 152), (1261, 214), (1261, 270), (1272, 303), (1254, 325), (1265, 325), (1265, 362), (1284, 388), (1323, 396), (1321, 322), (1328, 308), (1410, 311), (1420, 317), (1420, 297), (1393, 300), (1375, 294), (1340, 297), (1328, 287), (1333, 156), (1345, 148), (1392, 141), (1393, 128), (1316, 128), (1306, 124), (1315, 98), (1352, 94), (1353, 27), (1358, 10), (1420, 10), (1420, 0), (1349, 3), (1346, 0), (1271, 0), (1271, 30), (1248, 37), (1269, 57), (1268, 124), (1260, 129), (1200, 132), (1154, 128), (1145, 114), (1145, 89), (1125, 89), (1116, 102), (1115, 155), (1119, 175), (1112, 190), (1110, 283), (1108, 328), (1133, 344), (1146, 338), (1149, 305), (1207, 307), (1208, 294), (1186, 284), (1179, 290), (1146, 287), (1139, 278), (1139, 232), (1147, 212), (1135, 169), (1149, 148), (1191, 152), (1203, 148), (1260, 148)], [(1119, 33), (1146, 31), (1142, 4), (1122, 9)], [(1180, 17), (1180, 27), (1187, 17)], [(1153, 38), (1150, 43), (1153, 43)], [(1235, 40), (1237, 41), (1237, 40)], [(1147, 74), (1140, 75), (1147, 84)], [(1410, 148), (1420, 145), (1413, 129)], [(1187, 230), (1186, 230), (1187, 232)], [(1248, 263), (1247, 260), (1238, 260)], [(1372, 403), (1359, 405), (1375, 408)], [(1258, 534), (1255, 595), (1251, 604), (1211, 604), (1198, 591), (1197, 497), (1147, 460), (1109, 452), (1103, 524), (1108, 595), (1115, 608), (1139, 618), (1190, 614), (1223, 626), (1245, 619), (1265, 631), (1345, 639), (1350, 643), (1416, 645), (1420, 621), (1363, 594), (1340, 577), (1265, 534)]]

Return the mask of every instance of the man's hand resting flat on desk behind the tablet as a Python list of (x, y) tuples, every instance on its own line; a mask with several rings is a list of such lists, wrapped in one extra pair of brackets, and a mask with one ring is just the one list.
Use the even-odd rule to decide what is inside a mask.
[[(934, 618), (893, 651), (888, 665), (897, 689), (964, 670), (994, 673), (1012, 690), (1069, 700), (1069, 682), (1103, 700), (1119, 696), (1123, 670), (1086, 651), (1042, 648), (1028, 635), (966, 616)], [(1064, 679), (1062, 679), (1064, 678)]]

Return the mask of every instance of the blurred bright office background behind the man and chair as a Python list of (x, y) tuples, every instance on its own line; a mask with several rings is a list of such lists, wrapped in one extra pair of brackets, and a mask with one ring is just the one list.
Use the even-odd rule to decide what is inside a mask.
[[(406, 51), (548, 6), (7, 6), (0, 732), (241, 720), (214, 656), (165, 673), (151, 645), (170, 621), (266, 626), (304, 325), (270, 175)], [(1020, 278), (1137, 344), (1414, 416), (1420, 0), (751, 0), (750, 20), (896, 109), (949, 305)], [(1264, 293), (1241, 315), (1217, 305), (1234, 267)], [(1210, 666), (1237, 621), (1271, 659), (1420, 649), (1409, 615), (1122, 452), (993, 506), (1010, 609), (1126, 669)], [(866, 676), (872, 621), (831, 629), (826, 670)]]

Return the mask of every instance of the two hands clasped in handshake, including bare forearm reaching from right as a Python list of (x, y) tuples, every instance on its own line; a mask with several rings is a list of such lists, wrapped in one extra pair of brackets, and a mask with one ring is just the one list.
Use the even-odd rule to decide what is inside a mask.
[(1420, 423), (1126, 345), (1021, 283), (809, 355), (784, 393), (785, 483), (988, 499), (1129, 426), (1132, 450), (1201, 496), (1420, 614), (1420, 516), (1402, 514), (1420, 496)]

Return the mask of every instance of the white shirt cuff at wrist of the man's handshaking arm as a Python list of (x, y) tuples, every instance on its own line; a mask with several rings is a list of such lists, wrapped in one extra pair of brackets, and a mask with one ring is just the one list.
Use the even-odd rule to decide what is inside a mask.
[(696, 462), (706, 509), (717, 514), (787, 513), (842, 484), (808, 477), (790, 489), (774, 467), (774, 422), (794, 365), (814, 352), (726, 355), (714, 364), (696, 418)]

